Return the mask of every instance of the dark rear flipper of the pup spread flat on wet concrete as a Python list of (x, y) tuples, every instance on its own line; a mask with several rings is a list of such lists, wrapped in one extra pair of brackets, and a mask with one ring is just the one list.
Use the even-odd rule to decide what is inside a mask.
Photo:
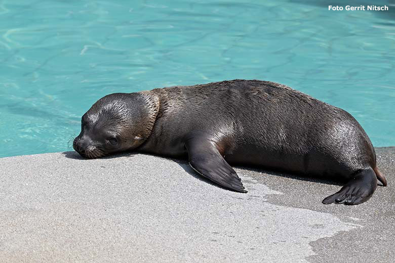
[(339, 192), (328, 196), (322, 202), (331, 204), (361, 204), (369, 200), (377, 188), (377, 178), (372, 168), (360, 170)]

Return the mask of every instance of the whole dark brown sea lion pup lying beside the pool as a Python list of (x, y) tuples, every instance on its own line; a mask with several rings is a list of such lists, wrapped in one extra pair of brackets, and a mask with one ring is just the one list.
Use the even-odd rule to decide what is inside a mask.
[(246, 193), (230, 164), (345, 179), (324, 204), (360, 204), (386, 180), (364, 129), (349, 113), (288, 86), (230, 80), (115, 93), (82, 117), (73, 148), (97, 158), (137, 150), (188, 156), (202, 176)]

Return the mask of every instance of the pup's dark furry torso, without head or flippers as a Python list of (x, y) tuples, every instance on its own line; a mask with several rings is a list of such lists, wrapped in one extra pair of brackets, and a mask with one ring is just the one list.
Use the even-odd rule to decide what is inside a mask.
[(141, 151), (181, 157), (187, 137), (205, 133), (232, 164), (320, 177), (349, 177), (376, 165), (368, 136), (350, 114), (285, 85), (235, 80), (150, 93), (163, 107)]

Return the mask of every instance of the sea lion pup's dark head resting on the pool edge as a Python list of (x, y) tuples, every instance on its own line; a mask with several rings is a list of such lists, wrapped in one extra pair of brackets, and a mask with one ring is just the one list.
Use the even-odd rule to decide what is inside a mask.
[(86, 158), (133, 150), (151, 134), (159, 99), (147, 93), (114, 93), (83, 115), (73, 148)]

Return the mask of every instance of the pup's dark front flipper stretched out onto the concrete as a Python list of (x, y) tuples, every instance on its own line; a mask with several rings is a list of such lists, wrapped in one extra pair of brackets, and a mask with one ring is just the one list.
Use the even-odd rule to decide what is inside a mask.
[(222, 158), (214, 142), (207, 138), (193, 138), (186, 142), (189, 165), (202, 176), (230, 190), (247, 193), (241, 179)]

